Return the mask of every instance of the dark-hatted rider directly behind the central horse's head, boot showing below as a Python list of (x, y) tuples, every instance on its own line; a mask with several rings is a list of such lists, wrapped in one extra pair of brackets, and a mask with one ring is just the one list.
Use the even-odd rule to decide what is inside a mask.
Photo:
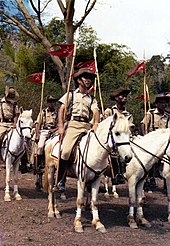
[[(114, 115), (115, 113), (117, 113), (117, 115), (123, 114), (125, 117), (128, 118), (130, 126), (131, 127), (134, 126), (133, 116), (126, 110), (125, 107), (129, 93), (130, 93), (129, 89), (120, 87), (110, 94), (110, 99), (115, 101), (116, 103), (111, 108), (107, 108), (105, 110), (105, 114), (104, 114), (105, 118)], [(124, 176), (122, 175), (124, 173), (123, 163), (120, 162), (119, 157), (117, 155), (115, 155), (114, 158), (113, 157), (111, 158), (111, 162), (113, 164), (112, 166), (115, 176), (115, 178), (112, 177), (112, 184), (117, 185), (117, 184), (124, 183), (125, 180), (124, 180)]]

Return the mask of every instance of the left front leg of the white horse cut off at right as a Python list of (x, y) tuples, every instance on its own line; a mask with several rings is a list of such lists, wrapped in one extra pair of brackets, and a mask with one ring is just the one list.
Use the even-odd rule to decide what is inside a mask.
[(128, 188), (129, 188), (129, 215), (127, 217), (128, 225), (137, 229), (137, 223), (135, 221), (135, 205), (136, 205), (136, 182), (133, 177), (128, 179)]

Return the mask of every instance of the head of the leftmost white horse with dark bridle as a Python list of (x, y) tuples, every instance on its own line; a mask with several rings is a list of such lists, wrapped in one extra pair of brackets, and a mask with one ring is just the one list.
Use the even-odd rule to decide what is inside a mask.
[(23, 110), (20, 108), (20, 115), (18, 117), (16, 129), (20, 136), (25, 139), (31, 138), (33, 119), (32, 119), (32, 109)]

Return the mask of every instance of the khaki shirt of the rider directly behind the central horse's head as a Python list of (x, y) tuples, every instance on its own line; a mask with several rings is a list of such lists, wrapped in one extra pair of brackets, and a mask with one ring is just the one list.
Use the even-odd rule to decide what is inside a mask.
[(107, 118), (107, 117), (109, 117), (115, 113), (117, 113), (118, 116), (123, 114), (125, 117), (128, 117), (129, 122), (130, 122), (130, 126), (134, 126), (132, 114), (130, 114), (126, 109), (121, 112), (117, 108), (117, 105), (114, 105), (112, 108), (107, 108), (104, 112), (104, 116), (105, 116), (105, 118)]

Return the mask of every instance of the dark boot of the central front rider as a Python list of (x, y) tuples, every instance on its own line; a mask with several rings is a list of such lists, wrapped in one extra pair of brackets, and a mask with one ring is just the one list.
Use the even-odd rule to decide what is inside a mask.
[(65, 192), (66, 174), (67, 174), (68, 161), (60, 159), (59, 170), (58, 170), (58, 191)]

